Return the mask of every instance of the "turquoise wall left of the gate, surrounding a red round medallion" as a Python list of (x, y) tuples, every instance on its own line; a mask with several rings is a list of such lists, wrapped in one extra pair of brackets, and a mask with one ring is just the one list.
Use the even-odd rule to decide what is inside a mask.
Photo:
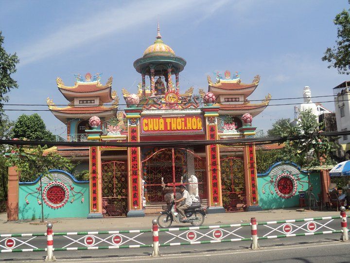
[[(52, 208), (47, 204), (44, 206), (44, 218), (63, 218), (63, 217), (87, 217), (89, 212), (89, 183), (88, 181), (79, 182), (68, 172), (62, 170), (51, 170), (49, 177), (42, 177), (43, 189), (52, 181), (63, 183), (69, 192), (69, 199), (67, 203), (60, 208)], [(81, 192), (84, 195), (84, 202), (82, 202), (82, 195), (80, 193), (72, 192), (70, 186), (74, 188), (75, 192)], [(18, 219), (41, 219), (41, 205), (38, 204), (37, 198), (41, 201), (40, 193), (36, 188), (40, 187), (40, 178), (38, 177), (34, 182), (19, 183), (18, 194)], [(35, 193), (33, 193), (35, 192)], [(30, 194), (33, 193), (33, 194)], [(28, 195), (29, 194), (29, 195)], [(75, 195), (73, 202), (73, 194)], [(28, 196), (27, 196), (28, 195)], [(28, 203), (26, 202), (26, 196)]]

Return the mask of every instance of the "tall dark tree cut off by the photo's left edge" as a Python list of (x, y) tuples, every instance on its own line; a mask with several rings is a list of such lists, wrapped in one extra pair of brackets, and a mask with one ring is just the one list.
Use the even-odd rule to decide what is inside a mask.
[(15, 54), (7, 54), (5, 49), (2, 47), (4, 37), (0, 31), (0, 122), (2, 122), (3, 104), (2, 102), (8, 101), (8, 93), (11, 89), (18, 88), (17, 81), (11, 77), (11, 74), (16, 73), (16, 64), (19, 59)]

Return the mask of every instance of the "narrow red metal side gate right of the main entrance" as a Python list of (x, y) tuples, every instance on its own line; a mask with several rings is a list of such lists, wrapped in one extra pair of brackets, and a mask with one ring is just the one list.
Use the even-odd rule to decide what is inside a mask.
[(227, 212), (245, 211), (245, 175), (242, 158), (220, 160), (223, 207)]

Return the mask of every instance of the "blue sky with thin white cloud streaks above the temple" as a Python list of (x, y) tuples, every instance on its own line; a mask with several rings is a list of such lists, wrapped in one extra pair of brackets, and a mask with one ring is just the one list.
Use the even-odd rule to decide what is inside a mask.
[[(164, 42), (187, 60), (180, 74), (182, 91), (191, 86), (194, 93), (206, 90), (207, 75), (229, 70), (241, 72), (243, 83), (261, 75), (251, 100), (268, 93), (272, 98), (301, 97), (304, 86), (311, 87), (313, 96), (331, 95), (334, 86), (350, 79), (328, 69), (321, 57), (334, 45), (335, 15), (349, 7), (347, 0), (0, 0), (4, 47), (20, 59), (14, 75), (19, 88), (9, 94), (9, 103), (46, 104), (50, 96), (56, 104), (66, 104), (56, 77), (73, 86), (74, 74), (87, 72), (103, 73), (103, 83), (112, 75), (113, 90), (124, 103), (120, 91), (136, 92), (141, 76), (133, 62), (155, 40), (158, 19)], [(302, 99), (288, 101), (294, 102)], [(333, 103), (323, 104), (334, 110)], [(14, 120), (31, 114), (6, 113)], [(52, 113), (38, 113), (48, 129), (64, 131)], [(253, 125), (267, 130), (283, 117), (293, 118), (293, 105), (267, 107)]]

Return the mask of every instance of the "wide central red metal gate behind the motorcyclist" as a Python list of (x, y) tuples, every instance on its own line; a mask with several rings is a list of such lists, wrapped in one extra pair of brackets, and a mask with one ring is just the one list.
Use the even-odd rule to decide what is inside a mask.
[(146, 155), (142, 165), (146, 208), (164, 204), (162, 180), (166, 187), (173, 188), (175, 192), (181, 182), (190, 184), (191, 175), (197, 178), (200, 198), (207, 198), (205, 159), (191, 150), (155, 149)]

